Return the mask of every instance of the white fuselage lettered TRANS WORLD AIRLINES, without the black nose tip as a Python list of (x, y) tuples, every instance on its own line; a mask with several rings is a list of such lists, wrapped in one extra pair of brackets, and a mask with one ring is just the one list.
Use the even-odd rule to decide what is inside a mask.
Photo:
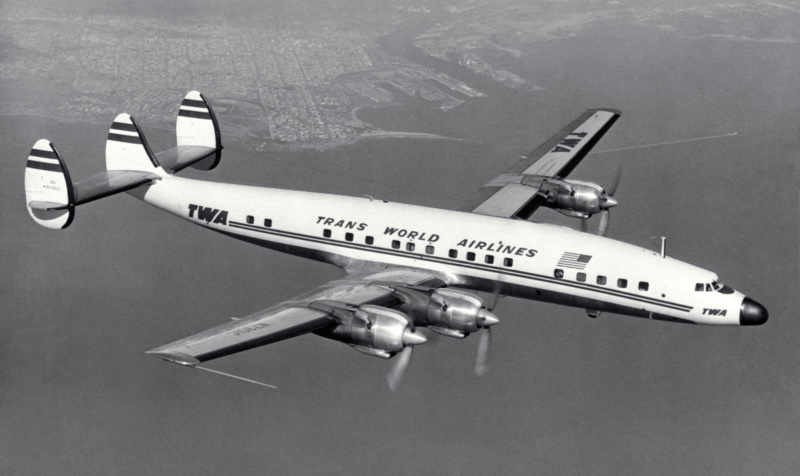
[[(473, 290), (491, 291), (499, 282), (504, 295), (700, 324), (738, 325), (744, 299), (738, 291), (695, 291), (697, 283), (717, 279), (710, 271), (553, 225), (175, 176), (129, 193), (201, 226), (343, 268), (407, 266), (437, 272), (450, 284)], [(265, 219), (271, 226), (264, 226)], [(396, 231), (390, 234), (391, 229)], [(330, 237), (324, 236), (325, 230)], [(352, 233), (352, 241), (347, 241), (347, 233)], [(367, 237), (372, 237), (371, 245)], [(399, 249), (393, 248), (395, 240)], [(414, 244), (413, 251), (408, 243)], [(433, 246), (433, 254), (426, 252), (427, 245)], [(450, 250), (458, 256), (451, 258)], [(468, 261), (468, 252), (475, 254), (474, 261)], [(564, 253), (591, 258), (578, 270), (558, 265)], [(494, 257), (492, 264), (486, 263), (486, 255)], [(513, 264), (505, 266), (504, 258)], [(562, 278), (555, 277), (556, 269), (563, 270)], [(585, 273), (585, 282), (578, 280), (579, 272)], [(604, 285), (598, 284), (598, 276), (606, 277)], [(627, 280), (626, 288), (618, 286), (619, 279)], [(640, 282), (648, 283), (646, 291), (639, 289)]]

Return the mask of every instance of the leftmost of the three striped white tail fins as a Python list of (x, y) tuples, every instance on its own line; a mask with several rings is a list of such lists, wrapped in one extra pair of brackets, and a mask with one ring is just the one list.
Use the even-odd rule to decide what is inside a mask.
[(72, 181), (56, 147), (47, 139), (33, 145), (25, 166), (25, 203), (33, 220), (45, 228), (72, 223), (75, 209)]

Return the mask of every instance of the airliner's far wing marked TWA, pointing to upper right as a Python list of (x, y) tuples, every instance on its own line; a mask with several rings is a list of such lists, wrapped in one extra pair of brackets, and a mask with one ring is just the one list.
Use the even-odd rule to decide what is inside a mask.
[(590, 109), (502, 175), (483, 186), (462, 208), (479, 215), (529, 218), (547, 197), (542, 181), (563, 179), (614, 125), (620, 112)]

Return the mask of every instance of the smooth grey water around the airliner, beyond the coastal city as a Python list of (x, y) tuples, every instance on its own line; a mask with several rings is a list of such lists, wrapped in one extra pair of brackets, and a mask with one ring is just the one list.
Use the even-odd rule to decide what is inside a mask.
[[(772, 31), (778, 20), (753, 21)], [(792, 43), (600, 23), (517, 60), (543, 91), (464, 73), (485, 99), (447, 113), (411, 103), (364, 114), (387, 130), (477, 143), (376, 139), (262, 154), (230, 145), (218, 169), (187, 173), (453, 208), (591, 107), (623, 111), (598, 150), (738, 133), (592, 155), (574, 176), (608, 184), (624, 163), (612, 235), (637, 244), (666, 235), (673, 257), (763, 303), (765, 326), (589, 319), (503, 299), (488, 375), (472, 373), (475, 337), (441, 338), (416, 349), (396, 393), (389, 362), (313, 335), (209, 365), (278, 390), (144, 355), (340, 272), (126, 195), (80, 207), (68, 230), (41, 228), (24, 207), (29, 148), (47, 137), (73, 176), (87, 176), (102, 167), (107, 125), (0, 116), (0, 473), (794, 474), (797, 58)], [(0, 102), (24, 87), (0, 79)], [(212, 104), (228, 94), (203, 92)], [(155, 148), (171, 146), (143, 126)]]

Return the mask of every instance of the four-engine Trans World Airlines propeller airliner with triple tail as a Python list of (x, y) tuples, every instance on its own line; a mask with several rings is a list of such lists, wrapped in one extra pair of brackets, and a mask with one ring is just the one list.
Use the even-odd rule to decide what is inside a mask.
[[(606, 190), (567, 177), (619, 117), (613, 109), (586, 111), (478, 190), (463, 210), (445, 210), (181, 178), (182, 169), (211, 170), (222, 157), (216, 115), (191, 91), (178, 111), (176, 147), (154, 153), (134, 118), (120, 114), (106, 141), (106, 170), (77, 182), (56, 147), (37, 141), (25, 169), (26, 205), (36, 223), (63, 229), (77, 206), (126, 192), (209, 230), (345, 272), (147, 351), (204, 370), (198, 364), (314, 333), (367, 355), (399, 356), (388, 375), (394, 390), (414, 346), (427, 340), (418, 330), (424, 327), (459, 339), (480, 332), (480, 374), (500, 296), (581, 308), (590, 317), (765, 323), (767, 309), (714, 272), (666, 256), (663, 247), (659, 253), (603, 236), (617, 205), (616, 184)], [(541, 207), (583, 220), (600, 214), (601, 233), (530, 221)], [(492, 302), (476, 292), (491, 293)]]

